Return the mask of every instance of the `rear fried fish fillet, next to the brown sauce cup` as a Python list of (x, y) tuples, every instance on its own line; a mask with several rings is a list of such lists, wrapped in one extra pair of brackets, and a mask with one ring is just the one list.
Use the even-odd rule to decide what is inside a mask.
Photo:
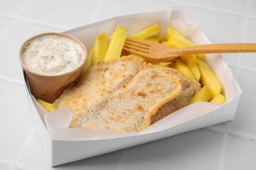
[(73, 115), (83, 112), (102, 97), (115, 92), (146, 67), (146, 62), (135, 56), (94, 65), (79, 82), (64, 90), (54, 101), (56, 109), (68, 107)]

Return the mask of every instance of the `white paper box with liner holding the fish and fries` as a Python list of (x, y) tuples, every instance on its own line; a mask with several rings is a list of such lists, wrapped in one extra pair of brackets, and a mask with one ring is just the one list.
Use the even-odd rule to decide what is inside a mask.
[[(96, 35), (106, 33), (109, 38), (117, 25), (129, 29), (129, 35), (133, 35), (154, 24), (160, 25), (162, 35), (165, 34), (167, 25), (173, 25), (175, 29), (196, 44), (210, 43), (202, 31), (198, 29), (196, 22), (179, 9), (121, 16), (72, 29), (66, 33), (79, 39), (89, 49), (93, 46)], [(219, 78), (223, 86), (226, 103), (199, 102), (189, 105), (139, 133), (67, 128), (68, 122), (72, 118), (68, 109), (47, 114), (35, 98), (30, 95), (29, 86), (27, 86), (28, 99), (32, 105), (37, 129), (49, 165), (56, 166), (82, 160), (232, 120), (242, 93), (240, 87), (221, 56), (209, 54), (205, 56), (205, 61)], [(56, 118), (61, 120), (56, 121)]]

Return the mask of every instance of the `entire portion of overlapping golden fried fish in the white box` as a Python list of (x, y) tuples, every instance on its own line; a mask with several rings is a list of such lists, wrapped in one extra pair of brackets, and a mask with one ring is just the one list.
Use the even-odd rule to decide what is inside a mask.
[(70, 127), (140, 131), (186, 106), (199, 89), (176, 69), (124, 56), (93, 66), (53, 105), (70, 109)]

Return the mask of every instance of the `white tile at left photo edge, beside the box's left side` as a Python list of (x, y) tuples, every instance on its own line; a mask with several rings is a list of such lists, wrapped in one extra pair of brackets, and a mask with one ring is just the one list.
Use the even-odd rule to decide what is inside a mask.
[(35, 125), (24, 85), (0, 80), (0, 160), (14, 161)]

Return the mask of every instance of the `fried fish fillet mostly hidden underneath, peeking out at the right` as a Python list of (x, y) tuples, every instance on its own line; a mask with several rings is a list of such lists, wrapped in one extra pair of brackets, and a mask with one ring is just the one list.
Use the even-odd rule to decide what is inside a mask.
[(200, 90), (201, 84), (197, 82), (196, 80), (192, 80), (189, 78), (186, 78), (182, 75), (179, 71), (176, 69), (166, 69), (164, 68), (167, 73), (170, 71), (173, 73), (173, 75), (176, 75), (180, 78), (182, 83), (182, 92), (179, 97), (169, 101), (160, 109), (158, 109), (158, 112), (151, 118), (151, 124), (154, 124), (155, 122), (158, 122), (158, 120), (161, 120), (165, 116), (168, 116), (169, 114), (182, 109), (183, 107), (186, 107), (188, 105), (188, 102), (192, 97)]

